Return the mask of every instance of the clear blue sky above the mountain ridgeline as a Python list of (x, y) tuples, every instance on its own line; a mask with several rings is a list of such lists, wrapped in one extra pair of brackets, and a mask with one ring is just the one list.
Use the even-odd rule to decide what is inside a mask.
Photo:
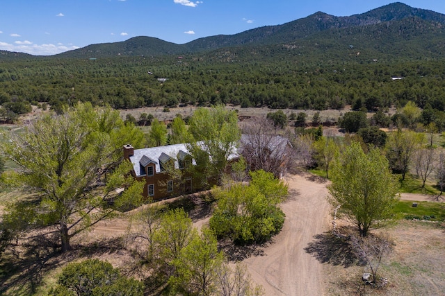
[[(0, 0), (0, 49), (52, 55), (136, 36), (184, 44), (232, 35), (323, 11), (346, 16), (388, 0)], [(443, 0), (405, 0), (445, 14)]]

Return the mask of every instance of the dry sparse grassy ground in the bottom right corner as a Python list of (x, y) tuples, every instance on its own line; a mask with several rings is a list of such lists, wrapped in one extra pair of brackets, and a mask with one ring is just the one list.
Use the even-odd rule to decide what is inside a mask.
[(445, 229), (437, 223), (401, 221), (385, 229), (396, 245), (380, 265), (378, 274), (386, 277), (385, 288), (363, 286), (366, 266), (327, 263), (327, 295), (444, 295)]

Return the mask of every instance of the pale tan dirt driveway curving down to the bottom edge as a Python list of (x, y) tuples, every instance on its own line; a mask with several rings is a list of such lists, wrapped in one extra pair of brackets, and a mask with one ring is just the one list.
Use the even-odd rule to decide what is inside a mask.
[(244, 262), (265, 295), (323, 295), (322, 264), (304, 248), (329, 227), (330, 206), (326, 183), (307, 180), (309, 175), (288, 178), (289, 200), (282, 204), (286, 221), (282, 232), (264, 250)]

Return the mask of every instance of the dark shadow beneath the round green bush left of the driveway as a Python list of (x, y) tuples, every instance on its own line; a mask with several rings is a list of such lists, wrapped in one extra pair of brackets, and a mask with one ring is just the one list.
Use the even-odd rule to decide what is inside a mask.
[(264, 256), (264, 247), (267, 244), (236, 245), (233, 241), (225, 239), (218, 242), (218, 248), (225, 253), (228, 261), (237, 262), (250, 256)]

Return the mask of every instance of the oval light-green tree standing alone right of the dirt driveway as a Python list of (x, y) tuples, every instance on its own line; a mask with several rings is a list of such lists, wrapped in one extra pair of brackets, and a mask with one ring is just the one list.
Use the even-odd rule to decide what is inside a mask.
[(351, 143), (334, 162), (331, 180), (330, 202), (339, 207), (339, 214), (353, 220), (361, 236), (391, 218), (398, 182), (377, 148), (365, 154), (359, 143)]

